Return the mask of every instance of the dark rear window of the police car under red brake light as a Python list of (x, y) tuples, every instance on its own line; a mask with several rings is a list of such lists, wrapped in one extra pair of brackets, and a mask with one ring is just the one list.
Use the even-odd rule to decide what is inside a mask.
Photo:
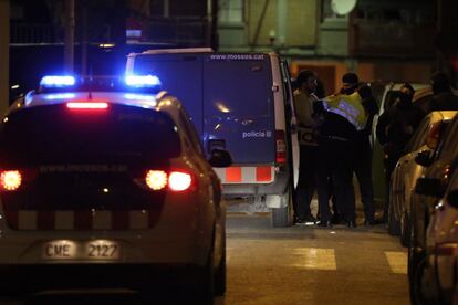
[(179, 156), (175, 123), (163, 113), (111, 104), (102, 112), (37, 106), (0, 127), (1, 164), (143, 162)]

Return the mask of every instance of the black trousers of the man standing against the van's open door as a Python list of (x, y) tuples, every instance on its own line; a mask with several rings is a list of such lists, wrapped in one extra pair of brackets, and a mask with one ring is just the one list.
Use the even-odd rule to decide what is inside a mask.
[(300, 166), (299, 166), (299, 181), (295, 191), (295, 215), (299, 219), (304, 219), (311, 214), (310, 203), (318, 185), (318, 147), (305, 146), (300, 147)]

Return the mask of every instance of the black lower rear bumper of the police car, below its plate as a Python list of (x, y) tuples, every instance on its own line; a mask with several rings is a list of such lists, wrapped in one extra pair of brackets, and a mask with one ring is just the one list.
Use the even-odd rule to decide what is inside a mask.
[(50, 290), (189, 286), (198, 283), (204, 267), (195, 264), (30, 264), (0, 265), (2, 293), (37, 293)]

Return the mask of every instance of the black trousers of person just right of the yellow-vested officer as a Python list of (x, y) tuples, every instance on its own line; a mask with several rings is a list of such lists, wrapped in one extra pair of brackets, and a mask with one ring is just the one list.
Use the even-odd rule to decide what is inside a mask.
[(374, 185), (372, 181), (372, 150), (368, 137), (356, 141), (354, 172), (356, 175), (361, 201), (364, 207), (364, 217), (367, 221), (374, 220)]

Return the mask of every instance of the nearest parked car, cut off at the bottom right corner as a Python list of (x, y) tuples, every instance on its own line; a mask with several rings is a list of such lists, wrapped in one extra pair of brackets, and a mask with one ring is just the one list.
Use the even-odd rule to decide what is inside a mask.
[[(456, 162), (457, 160), (455, 160)], [(458, 171), (434, 207), (427, 229), (425, 271), (417, 273), (427, 304), (458, 303)]]

